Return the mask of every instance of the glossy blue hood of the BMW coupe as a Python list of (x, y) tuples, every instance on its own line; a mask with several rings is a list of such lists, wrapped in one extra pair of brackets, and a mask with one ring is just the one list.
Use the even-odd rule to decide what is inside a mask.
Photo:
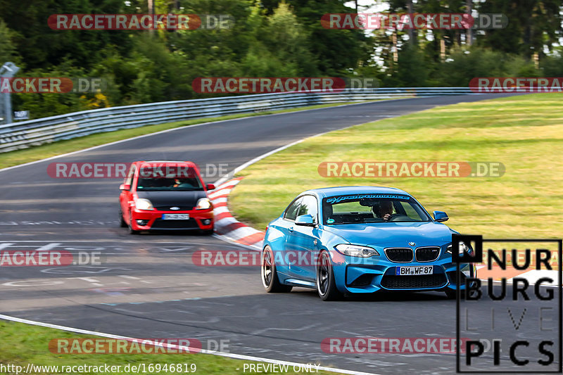
[(418, 247), (442, 246), (452, 241), (450, 228), (438, 222), (339, 224), (324, 226), (323, 229), (355, 245), (405, 247), (414, 242)]

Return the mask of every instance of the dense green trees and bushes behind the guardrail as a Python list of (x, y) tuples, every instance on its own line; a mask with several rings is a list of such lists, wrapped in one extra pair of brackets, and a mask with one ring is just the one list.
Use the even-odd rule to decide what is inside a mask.
[[(459, 13), (465, 0), (386, 1), (389, 10)], [(229, 28), (147, 31), (51, 30), (57, 13), (147, 13), (146, 0), (0, 0), (0, 63), (23, 77), (101, 77), (103, 100), (89, 94), (15, 94), (14, 110), (43, 117), (100, 106), (208, 98), (197, 77), (370, 77), (381, 86), (467, 86), (474, 77), (563, 75), (552, 46), (562, 35), (562, 4), (473, 1), (504, 13), (503, 30), (327, 30), (325, 13), (352, 13), (345, 0), (155, 0), (156, 13), (231, 15)], [(361, 8), (360, 8), (361, 11)], [(396, 42), (393, 42), (395, 40)], [(443, 44), (441, 43), (443, 41)], [(442, 51), (442, 45), (445, 51)], [(394, 51), (398, 51), (394, 53)], [(537, 52), (534, 54), (534, 52)], [(444, 54), (445, 53), (445, 54)], [(398, 56), (397, 61), (396, 56)], [(539, 69), (533, 58), (539, 59)], [(216, 94), (222, 95), (222, 94)]]

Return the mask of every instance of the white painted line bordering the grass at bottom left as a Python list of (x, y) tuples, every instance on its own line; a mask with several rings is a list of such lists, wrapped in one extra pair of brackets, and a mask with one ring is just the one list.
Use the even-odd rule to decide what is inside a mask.
[[(8, 315), (3, 315), (3, 314), (0, 314), (0, 319), (8, 320), (10, 322), (30, 324), (32, 326), (42, 326), (42, 327), (51, 328), (51, 329), (58, 329), (58, 330), (61, 330), (61, 331), (82, 333), (84, 335), (92, 335), (92, 336), (106, 337), (106, 338), (116, 338), (118, 340), (127, 340), (127, 341), (144, 341), (144, 339), (141, 339), (141, 338), (118, 336), (118, 335), (113, 335), (113, 334), (110, 334), (110, 333), (94, 332), (94, 331), (88, 331), (86, 329), (77, 329), (77, 328), (72, 328), (72, 327), (67, 327), (67, 326), (58, 326), (56, 324), (34, 322), (32, 320), (10, 317)], [(165, 348), (170, 348), (170, 349), (182, 349), (183, 351), (186, 351), (186, 352), (196, 352), (196, 351), (198, 351), (198, 352), (201, 352), (201, 354), (217, 355), (217, 356), (220, 356), (220, 357), (232, 358), (234, 360), (246, 360), (246, 361), (254, 361), (254, 362), (287, 364), (289, 366), (298, 366), (298, 367), (305, 365), (304, 363), (271, 360), (270, 358), (253, 357), (251, 355), (240, 355), (240, 354), (227, 353), (227, 352), (213, 352), (211, 350), (206, 350), (206, 349), (200, 350), (198, 348), (190, 348), (189, 346), (184, 346), (184, 345), (172, 345), (172, 344), (167, 344), (167, 343), (158, 343), (158, 342), (155, 342), (155, 341), (145, 341), (145, 342), (148, 343), (149, 345), (153, 345), (153, 346), (164, 346)], [(334, 369), (332, 367), (318, 367), (318, 369), (320, 369), (322, 371), (338, 372), (340, 374), (377, 375), (377, 374), (373, 374), (373, 373), (369, 373), (369, 372), (351, 371), (351, 370), (345, 370), (345, 369)]]

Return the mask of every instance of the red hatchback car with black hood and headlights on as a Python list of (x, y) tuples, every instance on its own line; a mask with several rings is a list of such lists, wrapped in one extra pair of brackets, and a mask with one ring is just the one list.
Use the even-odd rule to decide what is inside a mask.
[(198, 229), (213, 234), (213, 204), (199, 168), (189, 161), (137, 161), (120, 186), (120, 224), (131, 234)]

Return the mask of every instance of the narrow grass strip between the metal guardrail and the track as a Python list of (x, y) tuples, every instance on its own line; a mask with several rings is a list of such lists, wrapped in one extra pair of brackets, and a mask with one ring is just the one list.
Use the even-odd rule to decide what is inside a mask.
[(272, 115), (274, 113), (289, 113), (289, 112), (297, 112), (299, 110), (310, 110), (310, 109), (327, 108), (334, 106), (343, 106), (345, 104), (352, 104), (352, 103), (346, 102), (346, 103), (320, 104), (318, 106), (289, 108), (284, 110), (272, 110), (272, 111), (265, 111), (259, 113), (241, 113), (237, 115), (227, 115), (221, 117), (205, 117), (205, 118), (198, 118), (194, 120), (186, 120), (179, 122), (167, 122), (165, 124), (159, 124), (159, 125), (148, 125), (146, 127), (136, 127), (133, 129), (120, 129), (120, 130), (115, 130), (114, 132), (91, 134), (89, 136), (82, 136), (75, 139), (68, 139), (66, 141), (56, 141), (53, 142), (52, 144), (44, 144), (41, 146), (33, 146), (30, 148), (10, 151), (7, 153), (0, 153), (0, 169), (6, 167), (12, 167), (14, 165), (30, 163), (35, 160), (51, 158), (56, 155), (62, 155), (63, 153), (70, 153), (72, 151), (83, 150), (84, 148), (100, 146), (102, 144), (109, 144), (111, 142), (121, 141), (122, 139), (133, 138), (134, 136), (161, 132), (163, 130), (173, 129), (176, 127), (196, 125), (196, 124), (201, 124), (203, 122), (234, 120), (236, 118), (241, 118), (241, 117)]

